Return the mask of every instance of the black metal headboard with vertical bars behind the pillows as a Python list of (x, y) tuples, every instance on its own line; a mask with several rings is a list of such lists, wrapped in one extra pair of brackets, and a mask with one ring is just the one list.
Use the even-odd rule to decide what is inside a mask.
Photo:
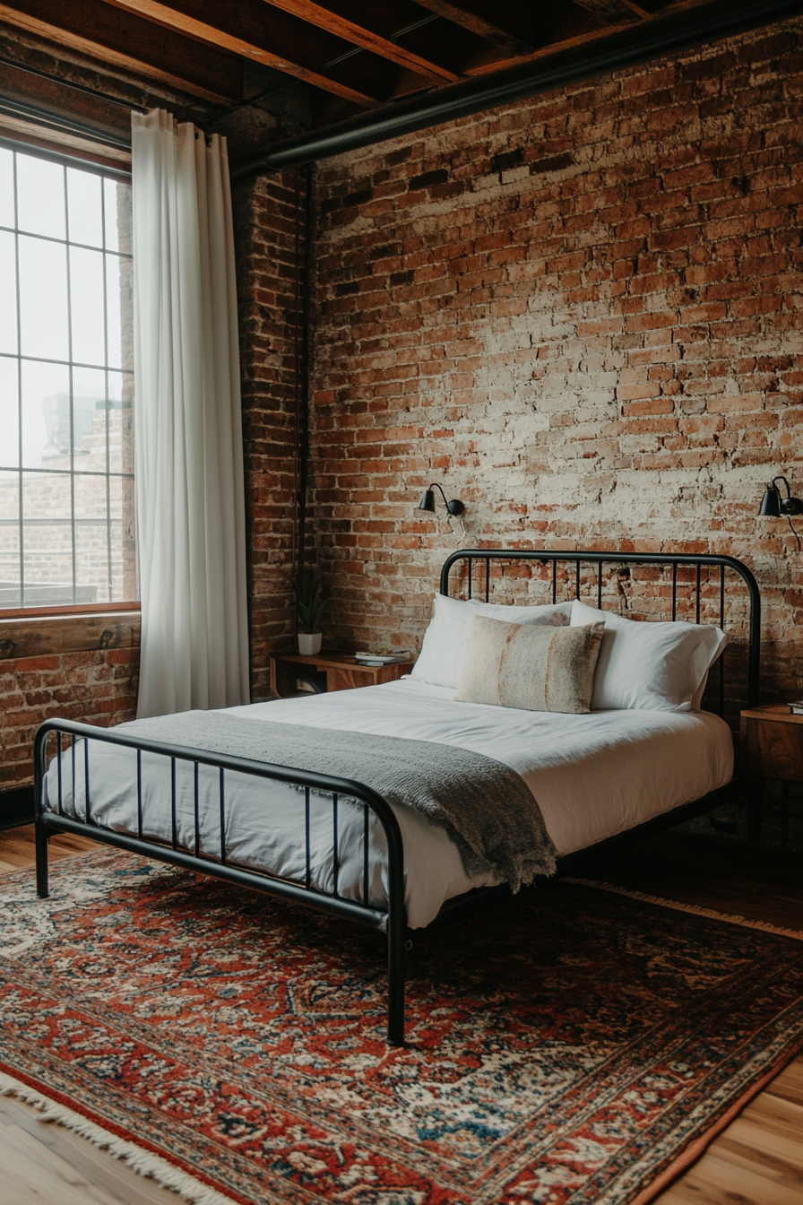
[[(522, 548), (461, 548), (459, 552), (453, 552), (450, 557), (444, 562), (443, 569), (441, 570), (441, 593), (449, 593), (449, 575), (454, 565), (460, 562), (466, 562), (467, 565), (467, 594), (472, 598), (472, 592), (474, 590), (474, 563), (484, 564), (484, 582), (483, 592), (485, 595), (485, 601), (488, 602), (491, 593), (491, 562), (498, 562), (502, 565), (506, 562), (538, 562), (542, 565), (551, 564), (551, 601), (557, 600), (557, 566), (561, 562), (574, 565), (574, 596), (580, 598), (580, 586), (583, 583), (583, 565), (595, 565), (596, 566), (596, 601), (597, 606), (602, 606), (602, 587), (603, 565), (657, 565), (665, 568), (672, 568), (672, 618), (677, 619), (678, 616), (678, 570), (679, 569), (692, 569), (695, 570), (691, 580), (693, 587), (693, 615), (695, 622), (699, 623), (701, 619), (701, 602), (702, 602), (702, 570), (703, 568), (715, 569), (719, 568), (719, 625), (725, 627), (725, 571), (733, 570), (734, 574), (743, 580), (746, 586), (748, 593), (748, 689), (746, 689), (746, 705), (748, 707), (755, 707), (758, 703), (758, 671), (760, 671), (760, 653), (761, 653), (761, 595), (758, 593), (758, 583), (752, 576), (751, 571), (736, 557), (720, 557), (710, 553), (675, 553), (675, 552), (568, 552), (568, 551), (541, 551), (541, 549), (522, 549)], [(684, 588), (689, 586), (687, 581), (681, 583)], [(686, 600), (687, 602), (687, 600)], [(687, 606), (684, 606), (684, 615), (680, 618), (691, 618), (686, 613)], [(724, 658), (720, 657), (719, 660), (719, 713), (722, 715), (725, 711), (725, 669)]]

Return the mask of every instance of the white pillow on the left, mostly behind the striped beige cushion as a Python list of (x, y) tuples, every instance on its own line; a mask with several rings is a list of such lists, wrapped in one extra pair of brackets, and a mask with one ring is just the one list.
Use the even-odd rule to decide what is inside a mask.
[(549, 623), (562, 628), (572, 615), (571, 602), (547, 606), (504, 606), (500, 602), (480, 602), (479, 599), (451, 599), (445, 594), (435, 595), (432, 619), (424, 633), (424, 643), (411, 677), (433, 686), (450, 686), (456, 689), (466, 659), (472, 619), (477, 615), (506, 623)]

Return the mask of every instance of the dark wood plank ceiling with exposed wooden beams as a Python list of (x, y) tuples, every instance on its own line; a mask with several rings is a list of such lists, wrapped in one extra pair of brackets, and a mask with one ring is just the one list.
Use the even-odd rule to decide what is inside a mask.
[(305, 124), (320, 130), (712, 2), (18, 0), (0, 4), (0, 34), (22, 31), (101, 71), (172, 88), (201, 116), (270, 108), (277, 94), (303, 89)]

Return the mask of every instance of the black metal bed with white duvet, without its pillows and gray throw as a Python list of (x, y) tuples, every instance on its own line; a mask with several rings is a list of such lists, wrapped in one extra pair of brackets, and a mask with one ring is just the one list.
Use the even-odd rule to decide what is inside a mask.
[(226, 752), (214, 737), (207, 748), (160, 740), (166, 722), (98, 729), (48, 721), (35, 748), (40, 897), (48, 894), (48, 835), (78, 831), (374, 928), (388, 942), (388, 1041), (400, 1045), (408, 930), (457, 913), (502, 887), (504, 874), (471, 864), (448, 827), (352, 776), (348, 757), (339, 774), (321, 772), (312, 754), (296, 759), (307, 764), (274, 764), (260, 733), (274, 740), (287, 725), (313, 742), (341, 733), (347, 748), (401, 740), (412, 751), (457, 751), (466, 764), (492, 759), (537, 800), (559, 860), (733, 798), (722, 716), (754, 705), (758, 689), (760, 598), (746, 566), (714, 556), (470, 549), (444, 564), (441, 595), (454, 598), (455, 583), (466, 600), (479, 593), (480, 604), (522, 589), (525, 607), (538, 592), (553, 604), (559, 595), (604, 602), (606, 611), (625, 599), (645, 622), (714, 619), (737, 640), (708, 675), (705, 710), (567, 716), (460, 701), (450, 686), (409, 677), (199, 713), (199, 730), (202, 718), (207, 733), (243, 731), (258, 758)]

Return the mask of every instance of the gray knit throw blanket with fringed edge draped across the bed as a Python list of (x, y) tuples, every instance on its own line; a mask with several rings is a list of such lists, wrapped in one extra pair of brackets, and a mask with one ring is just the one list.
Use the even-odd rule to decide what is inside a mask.
[(555, 872), (555, 846), (524, 778), (502, 762), (435, 741), (184, 711), (120, 724), (131, 735), (353, 778), (445, 829), (472, 877), (492, 870), (514, 892)]

